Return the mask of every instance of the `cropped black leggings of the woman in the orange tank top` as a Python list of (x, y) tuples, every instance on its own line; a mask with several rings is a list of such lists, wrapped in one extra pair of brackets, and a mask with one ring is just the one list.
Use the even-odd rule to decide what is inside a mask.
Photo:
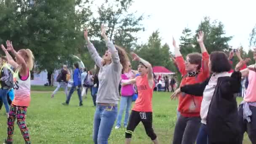
[(125, 138), (130, 139), (136, 126), (142, 122), (147, 135), (151, 138), (152, 141), (155, 140), (157, 136), (152, 128), (152, 120), (152, 112), (137, 112), (132, 110), (129, 123), (125, 131)]

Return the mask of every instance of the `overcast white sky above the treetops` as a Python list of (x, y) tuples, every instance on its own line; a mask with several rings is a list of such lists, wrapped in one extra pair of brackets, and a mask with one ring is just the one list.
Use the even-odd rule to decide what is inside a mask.
[(142, 22), (146, 31), (138, 34), (139, 43), (146, 43), (149, 35), (157, 29), (162, 44), (171, 46), (172, 36), (179, 43), (185, 27), (195, 32), (203, 17), (210, 16), (224, 24), (227, 36), (233, 36), (229, 45), (243, 45), (248, 49), (249, 35), (256, 24), (255, 6), (256, 0), (134, 0), (129, 11), (137, 11), (138, 16), (142, 13), (150, 15)]

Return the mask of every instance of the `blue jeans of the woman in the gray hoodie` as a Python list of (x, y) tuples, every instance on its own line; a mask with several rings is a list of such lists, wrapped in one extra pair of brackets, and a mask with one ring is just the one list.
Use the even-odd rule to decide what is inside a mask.
[(102, 106), (97, 104), (93, 122), (94, 144), (107, 144), (115, 119), (117, 117), (117, 104), (115, 106)]

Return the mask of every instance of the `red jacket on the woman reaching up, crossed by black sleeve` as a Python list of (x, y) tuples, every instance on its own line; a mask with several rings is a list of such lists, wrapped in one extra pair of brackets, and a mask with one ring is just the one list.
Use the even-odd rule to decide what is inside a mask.
[[(182, 75), (181, 86), (191, 85), (195, 83), (204, 82), (210, 75), (209, 72), (209, 54), (208, 52), (202, 53), (202, 67), (200, 72), (195, 77), (187, 77), (187, 71), (185, 69), (185, 61), (182, 56), (176, 57), (176, 64), (179, 68), (179, 71)], [(179, 107), (178, 111), (184, 117), (199, 117), (200, 116), (200, 108), (202, 96), (193, 96), (186, 93), (179, 94)]]

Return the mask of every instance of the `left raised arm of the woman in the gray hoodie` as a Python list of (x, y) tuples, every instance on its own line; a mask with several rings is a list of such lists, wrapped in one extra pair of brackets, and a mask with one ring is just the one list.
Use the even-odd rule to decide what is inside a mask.
[(96, 48), (94, 48), (93, 44), (89, 40), (87, 29), (84, 30), (83, 36), (85, 37), (85, 40), (87, 41), (87, 48), (88, 48), (89, 53), (91, 54), (91, 58), (93, 59), (93, 61), (95, 62), (95, 64), (98, 67), (101, 67), (102, 66), (102, 64), (101, 64), (102, 58), (99, 56), (99, 53), (96, 51)]

